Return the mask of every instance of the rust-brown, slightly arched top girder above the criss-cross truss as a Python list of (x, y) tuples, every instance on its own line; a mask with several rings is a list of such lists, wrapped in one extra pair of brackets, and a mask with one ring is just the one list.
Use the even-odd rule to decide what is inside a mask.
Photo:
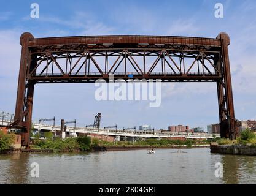
[(205, 47), (221, 47), (219, 39), (201, 37), (177, 36), (77, 36), (77, 37), (48, 37), (30, 39), (29, 47), (42, 47), (48, 45), (76, 45), (76, 44), (182, 44), (200, 45)]

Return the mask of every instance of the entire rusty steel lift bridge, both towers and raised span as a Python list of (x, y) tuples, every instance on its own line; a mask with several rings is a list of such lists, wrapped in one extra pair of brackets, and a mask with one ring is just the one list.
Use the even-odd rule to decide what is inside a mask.
[(29, 148), (34, 85), (94, 83), (122, 78), (162, 82), (215, 82), (221, 137), (236, 138), (228, 45), (230, 38), (174, 36), (20, 37), (21, 60), (12, 127), (22, 132)]

